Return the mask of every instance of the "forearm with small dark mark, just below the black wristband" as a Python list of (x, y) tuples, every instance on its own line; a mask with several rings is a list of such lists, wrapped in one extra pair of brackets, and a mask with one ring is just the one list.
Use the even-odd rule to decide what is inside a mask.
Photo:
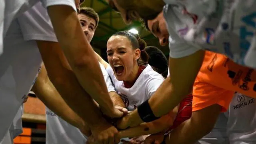
[(139, 126), (122, 130), (119, 132), (120, 138), (131, 138), (166, 131), (170, 126), (172, 126), (177, 112), (178, 106), (158, 120), (148, 123), (144, 122)]

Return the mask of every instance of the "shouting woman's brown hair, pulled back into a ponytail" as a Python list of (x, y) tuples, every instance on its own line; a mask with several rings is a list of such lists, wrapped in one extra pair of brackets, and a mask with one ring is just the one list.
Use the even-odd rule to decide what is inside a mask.
[(148, 64), (148, 54), (144, 50), (146, 48), (147, 44), (144, 40), (142, 40), (140, 38), (139, 34), (134, 34), (132, 32), (124, 30), (124, 31), (116, 32), (112, 36), (125, 36), (126, 38), (128, 38), (134, 49), (136, 49), (136, 48), (140, 49), (140, 58), (138, 59), (138, 64), (141, 64), (141, 65)]

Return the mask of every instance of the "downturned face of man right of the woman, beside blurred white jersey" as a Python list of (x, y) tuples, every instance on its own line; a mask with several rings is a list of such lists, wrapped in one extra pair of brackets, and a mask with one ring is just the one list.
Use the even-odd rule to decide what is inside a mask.
[(150, 32), (159, 40), (161, 46), (168, 44), (169, 33), (166, 28), (163, 12), (158, 14), (154, 20), (148, 20)]

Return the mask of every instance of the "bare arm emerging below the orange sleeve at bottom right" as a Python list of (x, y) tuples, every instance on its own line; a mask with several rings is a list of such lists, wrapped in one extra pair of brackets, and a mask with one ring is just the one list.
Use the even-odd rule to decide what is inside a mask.
[(166, 144), (194, 144), (211, 132), (220, 114), (221, 106), (214, 104), (192, 112), (190, 119), (180, 124), (165, 138)]

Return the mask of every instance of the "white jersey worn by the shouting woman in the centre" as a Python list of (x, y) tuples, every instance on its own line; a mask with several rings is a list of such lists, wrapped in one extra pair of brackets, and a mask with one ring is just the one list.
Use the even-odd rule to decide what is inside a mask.
[(116, 91), (124, 100), (125, 106), (129, 111), (136, 109), (138, 105), (148, 100), (164, 81), (164, 77), (148, 65), (137, 78), (134, 85), (131, 88), (125, 88), (124, 82), (116, 79), (114, 71), (110, 66), (106, 70), (114, 83)]

